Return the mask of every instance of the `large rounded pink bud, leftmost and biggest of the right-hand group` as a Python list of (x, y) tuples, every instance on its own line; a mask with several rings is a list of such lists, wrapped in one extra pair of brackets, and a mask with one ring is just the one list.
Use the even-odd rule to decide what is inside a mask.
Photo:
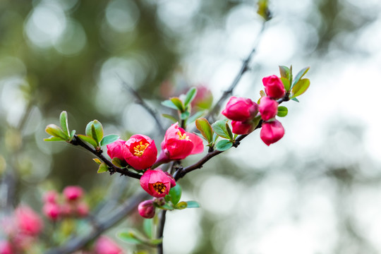
[(234, 121), (246, 121), (253, 119), (258, 112), (258, 104), (251, 99), (242, 97), (230, 97), (222, 114)]

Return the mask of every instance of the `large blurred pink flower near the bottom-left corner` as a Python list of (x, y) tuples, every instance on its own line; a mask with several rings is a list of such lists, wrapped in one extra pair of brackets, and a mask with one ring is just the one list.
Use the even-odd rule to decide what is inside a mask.
[(40, 233), (43, 226), (42, 220), (30, 207), (25, 205), (17, 207), (15, 218), (17, 228), (23, 234), (35, 236)]

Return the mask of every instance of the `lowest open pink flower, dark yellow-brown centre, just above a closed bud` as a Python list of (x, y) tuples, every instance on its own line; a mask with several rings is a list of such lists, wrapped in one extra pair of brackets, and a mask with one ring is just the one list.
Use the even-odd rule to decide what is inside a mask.
[[(155, 198), (162, 198), (167, 195), (173, 183), (172, 179), (162, 169), (148, 169), (140, 178), (140, 186)], [(174, 186), (176, 186), (176, 182)]]

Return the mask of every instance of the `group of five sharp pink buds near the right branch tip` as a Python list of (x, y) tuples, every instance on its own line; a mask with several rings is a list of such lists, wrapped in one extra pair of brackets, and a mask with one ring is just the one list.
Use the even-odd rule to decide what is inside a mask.
[(266, 145), (271, 145), (284, 135), (282, 123), (275, 116), (278, 112), (277, 99), (284, 97), (286, 90), (276, 75), (265, 77), (262, 82), (267, 96), (260, 99), (259, 105), (248, 98), (231, 97), (222, 114), (231, 120), (232, 132), (236, 134), (252, 132), (258, 123), (254, 120), (260, 115), (263, 121), (260, 138)]

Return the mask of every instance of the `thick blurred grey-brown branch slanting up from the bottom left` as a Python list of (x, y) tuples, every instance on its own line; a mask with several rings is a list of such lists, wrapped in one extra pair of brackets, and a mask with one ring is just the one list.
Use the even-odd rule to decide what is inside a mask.
[(97, 238), (104, 231), (111, 228), (122, 219), (126, 218), (126, 215), (130, 214), (135, 210), (135, 207), (138, 206), (139, 202), (145, 198), (148, 198), (149, 195), (147, 193), (138, 193), (135, 196), (129, 198), (124, 202), (121, 206), (116, 208), (114, 214), (111, 214), (106, 219), (95, 218), (92, 221), (93, 229), (90, 234), (86, 234), (85, 236), (74, 236), (73, 238), (63, 243), (62, 246), (58, 248), (52, 248), (47, 250), (45, 254), (69, 254), (73, 253), (76, 250), (80, 250), (85, 247), (87, 243)]

